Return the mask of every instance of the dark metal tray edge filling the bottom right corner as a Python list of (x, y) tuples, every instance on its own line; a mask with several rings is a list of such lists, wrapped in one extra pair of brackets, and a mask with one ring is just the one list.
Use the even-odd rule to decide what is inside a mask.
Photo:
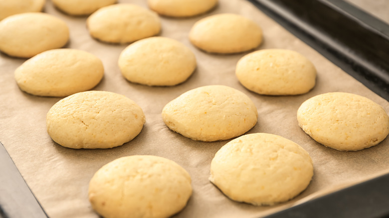
[(389, 175), (343, 189), (267, 218), (389, 217)]

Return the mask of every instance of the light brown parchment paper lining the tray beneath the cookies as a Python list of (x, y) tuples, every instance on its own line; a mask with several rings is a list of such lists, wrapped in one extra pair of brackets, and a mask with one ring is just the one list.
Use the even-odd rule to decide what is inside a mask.
[[(145, 0), (120, 0), (147, 7)], [(86, 29), (86, 17), (71, 17), (47, 2), (45, 12), (63, 19), (70, 27), (67, 47), (91, 52), (101, 58), (105, 75), (94, 90), (119, 93), (135, 101), (144, 110), (146, 124), (132, 141), (112, 149), (75, 150), (51, 140), (46, 132), (46, 113), (60, 98), (36, 97), (20, 91), (13, 79), (14, 70), (25, 59), (0, 55), (0, 141), (5, 146), (28, 186), (51, 218), (95, 218), (87, 198), (88, 183), (104, 164), (128, 155), (162, 156), (183, 166), (192, 176), (193, 196), (176, 217), (257, 218), (340, 188), (389, 173), (389, 140), (357, 152), (341, 152), (315, 142), (298, 126), (296, 111), (305, 100), (327, 92), (350, 92), (372, 99), (386, 111), (389, 103), (336, 67), (319, 53), (268, 18), (245, 0), (219, 0), (211, 12), (188, 19), (161, 17), (161, 36), (186, 44), (195, 53), (197, 69), (185, 83), (174, 87), (147, 87), (127, 82), (117, 66), (120, 52), (127, 45), (112, 45), (92, 39)], [(230, 12), (258, 23), (264, 42), (258, 49), (292, 49), (307, 56), (318, 71), (317, 85), (307, 94), (271, 97), (252, 93), (235, 77), (235, 65), (245, 54), (213, 55), (196, 49), (188, 39), (194, 22), (210, 14)], [(314, 163), (314, 177), (301, 195), (273, 207), (254, 207), (226, 198), (208, 181), (209, 165), (215, 152), (227, 143), (198, 142), (175, 133), (164, 124), (161, 111), (182, 93), (204, 85), (221, 84), (247, 94), (258, 109), (258, 123), (248, 133), (277, 134), (300, 144)]]

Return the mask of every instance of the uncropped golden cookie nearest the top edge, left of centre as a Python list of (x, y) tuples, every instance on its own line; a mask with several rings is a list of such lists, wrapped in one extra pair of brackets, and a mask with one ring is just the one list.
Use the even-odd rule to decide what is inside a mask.
[(161, 30), (157, 13), (127, 3), (102, 7), (86, 23), (93, 38), (110, 43), (134, 42), (157, 35)]

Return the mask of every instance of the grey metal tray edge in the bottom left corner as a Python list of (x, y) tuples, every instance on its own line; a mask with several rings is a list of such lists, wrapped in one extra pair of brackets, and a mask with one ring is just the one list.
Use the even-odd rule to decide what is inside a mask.
[(1, 142), (0, 218), (47, 218)]

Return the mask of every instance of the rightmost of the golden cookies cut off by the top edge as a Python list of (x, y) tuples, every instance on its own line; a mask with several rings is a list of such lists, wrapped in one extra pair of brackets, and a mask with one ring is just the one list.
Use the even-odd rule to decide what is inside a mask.
[(212, 9), (217, 0), (148, 0), (149, 7), (157, 13), (172, 17), (189, 17)]

